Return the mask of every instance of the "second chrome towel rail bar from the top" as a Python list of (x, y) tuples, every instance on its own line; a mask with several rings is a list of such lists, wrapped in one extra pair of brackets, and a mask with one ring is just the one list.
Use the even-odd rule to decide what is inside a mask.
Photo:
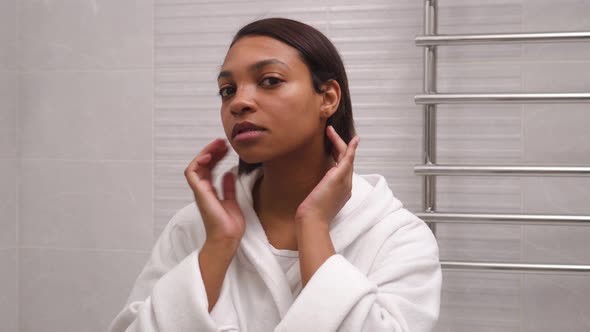
[(429, 93), (414, 97), (417, 105), (588, 103), (590, 93)]

